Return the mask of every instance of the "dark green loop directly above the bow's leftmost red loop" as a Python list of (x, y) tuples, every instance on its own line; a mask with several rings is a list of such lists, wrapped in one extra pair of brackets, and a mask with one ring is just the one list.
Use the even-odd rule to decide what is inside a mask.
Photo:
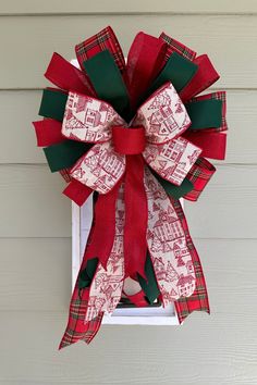
[(66, 105), (68, 95), (52, 89), (44, 89), (38, 114), (62, 122)]

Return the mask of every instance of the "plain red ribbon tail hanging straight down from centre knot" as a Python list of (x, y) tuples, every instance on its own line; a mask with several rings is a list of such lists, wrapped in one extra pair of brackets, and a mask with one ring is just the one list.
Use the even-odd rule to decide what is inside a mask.
[(147, 199), (144, 186), (144, 160), (142, 156), (126, 156), (125, 174), (125, 276), (136, 273), (145, 276), (147, 253)]

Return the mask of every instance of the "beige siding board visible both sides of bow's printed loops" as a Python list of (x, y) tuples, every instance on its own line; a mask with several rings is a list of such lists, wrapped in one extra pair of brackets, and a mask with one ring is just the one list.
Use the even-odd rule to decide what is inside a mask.
[[(0, 91), (1, 124), (7, 127), (0, 141), (0, 163), (46, 163), (32, 125), (40, 120), (40, 98), (39, 90)], [(227, 163), (257, 163), (256, 105), (256, 90), (228, 91)]]

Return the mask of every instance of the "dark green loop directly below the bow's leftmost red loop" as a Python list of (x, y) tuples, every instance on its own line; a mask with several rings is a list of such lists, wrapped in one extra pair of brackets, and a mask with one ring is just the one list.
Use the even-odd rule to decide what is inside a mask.
[(44, 148), (49, 167), (52, 173), (71, 167), (91, 145), (81, 141), (64, 140)]

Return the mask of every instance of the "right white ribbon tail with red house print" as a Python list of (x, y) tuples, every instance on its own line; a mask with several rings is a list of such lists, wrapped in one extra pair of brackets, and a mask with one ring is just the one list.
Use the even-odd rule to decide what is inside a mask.
[(146, 170), (148, 202), (147, 243), (157, 283), (167, 306), (195, 290), (196, 275), (186, 234), (164, 189)]

